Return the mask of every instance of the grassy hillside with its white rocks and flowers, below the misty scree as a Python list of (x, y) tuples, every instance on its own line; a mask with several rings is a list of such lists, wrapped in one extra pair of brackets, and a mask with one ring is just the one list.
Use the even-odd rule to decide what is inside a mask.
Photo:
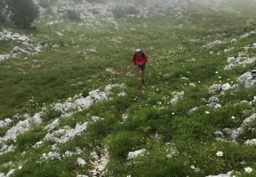
[(255, 18), (44, 20), (0, 33), (0, 176), (256, 175)]

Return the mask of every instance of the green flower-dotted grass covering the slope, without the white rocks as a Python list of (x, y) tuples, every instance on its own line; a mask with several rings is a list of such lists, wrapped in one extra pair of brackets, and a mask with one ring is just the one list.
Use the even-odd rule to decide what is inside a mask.
[[(246, 26), (246, 20), (251, 20), (251, 25)], [(147, 22), (147, 28), (138, 26), (143, 22)], [(256, 28), (254, 17), (191, 10), (180, 19), (173, 14), (147, 20), (119, 19), (119, 29), (106, 24), (90, 28), (67, 21), (51, 27), (44, 22), (35, 22), (35, 25), (35, 31), (14, 31), (31, 36), (33, 44), (45, 40), (51, 46), (61, 44), (61, 47), (46, 48), (38, 55), (26, 56), (27, 59), (0, 62), (1, 119), (17, 112), (33, 114), (44, 103), (66, 101), (80, 93), (87, 96), (89, 91), (107, 84), (126, 83), (126, 97), (114, 97), (94, 104), (89, 110), (61, 118), (61, 124), (55, 129), (66, 125), (74, 127), (76, 123), (90, 120), (91, 116), (103, 120), (89, 124), (87, 131), (61, 144), (59, 152), (74, 151), (79, 147), (84, 150), (82, 157), (88, 163), (92, 150), (108, 146), (110, 162), (106, 176), (207, 176), (231, 170), (235, 170), (237, 176), (247, 176), (243, 170), (247, 166), (253, 168), (253, 173), (248, 176), (255, 175), (255, 146), (242, 146), (245, 140), (255, 138), (251, 131), (243, 133), (241, 144), (216, 142), (213, 135), (214, 131), (226, 127), (240, 127), (242, 120), (255, 112), (251, 105), (235, 105), (242, 100), (252, 101), (255, 88), (227, 91), (221, 97), (222, 108), (219, 110), (209, 108), (201, 100), (212, 96), (208, 88), (213, 83), (233, 81), (235, 84), (238, 76), (255, 68), (254, 63), (232, 71), (224, 70), (227, 57), (236, 56), (242, 51), (241, 47), (255, 43), (256, 35), (239, 38)], [(64, 37), (57, 37), (55, 32), (61, 30), (64, 30)], [(229, 42), (233, 38), (238, 39), (236, 44)], [(210, 50), (202, 47), (216, 39), (227, 43)], [(9, 51), (12, 45), (12, 42), (1, 42), (0, 53)], [(234, 46), (234, 49), (226, 53), (223, 50), (228, 46)], [(98, 52), (88, 52), (87, 49), (91, 48)], [(145, 86), (137, 79), (137, 68), (131, 65), (130, 55), (135, 48), (143, 48), (150, 56)], [(218, 55), (219, 51), (221, 54)], [(253, 56), (255, 51), (250, 51), (250, 54)], [(189, 61), (192, 58), (196, 61)], [(107, 72), (107, 67), (113, 68), (116, 74)], [(134, 75), (127, 76), (128, 73)], [(182, 77), (188, 80), (182, 80)], [(189, 86), (190, 83), (196, 86)], [(115, 88), (113, 95), (121, 91)], [(173, 91), (185, 93), (174, 106), (170, 103)], [(198, 107), (197, 112), (189, 116), (188, 111), (195, 107)], [(243, 114), (244, 110), (248, 113)], [(210, 114), (205, 114), (205, 111)], [(128, 113), (128, 120), (121, 124), (124, 113)], [(236, 119), (232, 120), (231, 116)], [(15, 176), (89, 175), (91, 166), (89, 163), (86, 167), (76, 165), (78, 156), (63, 161), (41, 159), (43, 153), (51, 150), (52, 142), (31, 148), (46, 135), (46, 131), (42, 131), (44, 126), (57, 117), (59, 113), (48, 108), (42, 125), (18, 135), (14, 143), (16, 151), (1, 157), (0, 171), (8, 172), (10, 167), (5, 163), (13, 161), (16, 168), (23, 165), (21, 170), (16, 170)], [(251, 126), (255, 127), (255, 123)], [(1, 135), (5, 131), (7, 129), (1, 130)], [(160, 139), (154, 138), (156, 134)], [(166, 158), (169, 152), (167, 142), (174, 143), (179, 152), (172, 159)], [(127, 160), (128, 152), (141, 148), (149, 153), (131, 162)], [(216, 157), (220, 150), (224, 156)], [(26, 155), (20, 157), (23, 151)], [(242, 161), (246, 161), (246, 165), (241, 165)], [(200, 172), (192, 170), (191, 165), (198, 167)]]

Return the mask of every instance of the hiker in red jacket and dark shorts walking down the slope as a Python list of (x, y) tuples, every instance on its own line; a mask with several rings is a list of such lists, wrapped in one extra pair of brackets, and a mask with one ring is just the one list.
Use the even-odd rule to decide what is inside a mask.
[(139, 75), (141, 76), (141, 82), (144, 84), (144, 70), (145, 63), (147, 63), (147, 54), (143, 52), (141, 49), (137, 49), (132, 54), (132, 63), (139, 67)]

